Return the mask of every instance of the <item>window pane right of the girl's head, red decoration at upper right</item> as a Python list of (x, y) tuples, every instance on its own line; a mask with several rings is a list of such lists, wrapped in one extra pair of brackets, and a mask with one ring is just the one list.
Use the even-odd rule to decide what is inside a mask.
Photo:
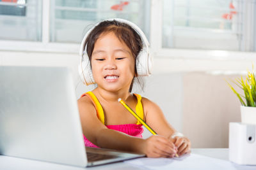
[(252, 51), (254, 9), (255, 1), (164, 0), (162, 45)]

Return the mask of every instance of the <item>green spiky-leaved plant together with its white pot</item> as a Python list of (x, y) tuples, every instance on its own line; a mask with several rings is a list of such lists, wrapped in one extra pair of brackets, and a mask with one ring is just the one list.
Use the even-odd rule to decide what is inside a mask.
[(245, 80), (243, 76), (241, 76), (241, 79), (237, 78), (236, 81), (233, 82), (244, 92), (244, 96), (239, 94), (232, 85), (227, 82), (241, 102), (241, 122), (245, 124), (256, 124), (256, 80), (254, 72), (248, 71)]

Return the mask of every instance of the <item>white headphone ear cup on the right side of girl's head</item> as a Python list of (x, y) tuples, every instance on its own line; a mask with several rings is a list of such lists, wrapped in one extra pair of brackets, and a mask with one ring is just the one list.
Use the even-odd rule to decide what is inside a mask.
[(136, 61), (138, 76), (149, 76), (152, 71), (152, 60), (146, 50), (141, 50)]

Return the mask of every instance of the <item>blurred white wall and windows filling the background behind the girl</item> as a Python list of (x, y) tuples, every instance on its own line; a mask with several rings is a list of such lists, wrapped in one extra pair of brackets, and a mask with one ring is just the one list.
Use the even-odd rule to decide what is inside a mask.
[(134, 22), (150, 41), (154, 72), (133, 91), (159, 104), (193, 148), (227, 148), (228, 122), (241, 118), (225, 80), (255, 63), (256, 1), (0, 0), (0, 66), (69, 67), (78, 99), (94, 88), (79, 80), (80, 43), (106, 18)]

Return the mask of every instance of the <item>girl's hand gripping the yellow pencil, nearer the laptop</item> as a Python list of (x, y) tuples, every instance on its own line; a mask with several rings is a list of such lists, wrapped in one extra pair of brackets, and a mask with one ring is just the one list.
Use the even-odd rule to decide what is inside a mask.
[(145, 139), (142, 152), (147, 157), (174, 157), (177, 153), (176, 146), (168, 138), (163, 136), (153, 135)]

